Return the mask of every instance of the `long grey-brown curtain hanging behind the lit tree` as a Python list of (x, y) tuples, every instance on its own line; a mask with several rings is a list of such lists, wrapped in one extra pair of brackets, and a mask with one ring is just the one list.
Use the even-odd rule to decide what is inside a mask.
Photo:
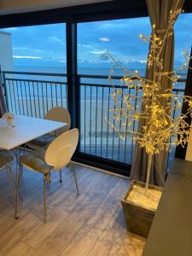
[[(156, 33), (158, 37), (163, 37), (170, 11), (173, 9), (183, 8), (184, 0), (146, 0), (148, 4), (148, 15), (151, 25), (155, 24)], [(150, 46), (149, 46), (150, 47)], [(168, 37), (164, 49), (161, 52), (160, 58), (163, 59), (163, 71), (172, 71), (174, 57), (174, 32), (172, 36)], [(153, 80), (154, 70), (149, 67), (146, 72), (146, 78)], [(172, 88), (172, 82), (169, 79), (161, 80), (162, 90)], [(139, 124), (139, 131), (142, 131), (143, 123)], [(147, 174), (147, 154), (144, 148), (139, 148), (136, 144), (134, 160), (131, 168), (131, 178), (145, 182)], [(160, 154), (154, 155), (151, 166), (150, 182), (158, 186), (163, 186), (166, 176), (166, 151), (161, 151)]]

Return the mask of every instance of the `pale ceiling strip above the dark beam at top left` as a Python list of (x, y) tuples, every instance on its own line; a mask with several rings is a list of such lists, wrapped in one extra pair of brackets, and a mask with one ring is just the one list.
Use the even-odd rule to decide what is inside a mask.
[(107, 1), (113, 0), (0, 0), (0, 15), (19, 14)]

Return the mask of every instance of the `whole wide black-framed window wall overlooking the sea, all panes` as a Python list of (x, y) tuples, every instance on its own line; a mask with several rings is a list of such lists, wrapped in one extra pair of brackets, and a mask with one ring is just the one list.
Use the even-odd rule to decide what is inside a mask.
[[(183, 62), (181, 53), (186, 50), (190, 52), (190, 20), (192, 14), (183, 14), (178, 17), (175, 25), (175, 68)], [(70, 42), (74, 34), (72, 33), (70, 38), (70, 32), (67, 30), (69, 38), (66, 40), (64, 23), (12, 27), (0, 31), (0, 46), (1, 49), (6, 49), (0, 52), (0, 61), (1, 68), (5, 71), (3, 79), (9, 110), (43, 118), (49, 108), (67, 107), (67, 88), (71, 86), (70, 92), (77, 90), (77, 94), (69, 93), (74, 102), (71, 105), (77, 104), (80, 107), (75, 108), (78, 112), (74, 115), (77, 119), (73, 122), (79, 124), (80, 130), (80, 154), (77, 154), (77, 157), (83, 158), (84, 154), (88, 160), (96, 160), (96, 157), (99, 157), (102, 163), (111, 166), (114, 164), (117, 168), (123, 166), (129, 171), (128, 165), (132, 163), (135, 145), (131, 138), (121, 140), (118, 131), (113, 131), (112, 126), (108, 124), (108, 121), (112, 121), (113, 125), (109, 113), (110, 109), (114, 108), (111, 97), (113, 88), (108, 76), (112, 76), (113, 83), (119, 85), (123, 70), (115, 68), (111, 73), (114, 63), (106, 52), (108, 51), (123, 67), (137, 70), (144, 76), (148, 43), (143, 43), (139, 34), (150, 35), (150, 20), (144, 17), (82, 22), (77, 24), (77, 30), (78, 76), (73, 76), (73, 72), (68, 74), (72, 84), (67, 84), (67, 52), (71, 49), (69, 47), (67, 51), (66, 47), (72, 46)], [(69, 67), (75, 67), (75, 59), (69, 60)], [(74, 71), (74, 68), (69, 70)], [(186, 71), (182, 71), (180, 76), (183, 80), (177, 83), (174, 89), (177, 94), (183, 94)], [(73, 84), (73, 81), (77, 83)], [(133, 95), (138, 93), (135, 89), (130, 92)], [(73, 113), (71, 105), (69, 107)], [(137, 108), (137, 101), (132, 102), (132, 106)], [(172, 114), (178, 115), (180, 112), (181, 109)], [(130, 128), (137, 131), (137, 124), (132, 124)], [(170, 159), (174, 157), (174, 152), (175, 148), (172, 148)]]

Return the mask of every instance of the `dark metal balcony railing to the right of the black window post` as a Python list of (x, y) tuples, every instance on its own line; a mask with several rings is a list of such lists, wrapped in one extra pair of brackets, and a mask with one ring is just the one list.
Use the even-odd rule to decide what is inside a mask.
[[(126, 86), (118, 85), (119, 76), (112, 76), (113, 84), (119, 87), (119, 90), (129, 92), (134, 96), (139, 95), (137, 89), (127, 89)], [(125, 164), (132, 163), (135, 143), (131, 137), (125, 137), (125, 140), (120, 139), (119, 132), (113, 131), (111, 125), (108, 125), (107, 120), (114, 124), (114, 119), (110, 119), (110, 109), (115, 108), (113, 98), (110, 94), (113, 92), (113, 87), (109, 84), (108, 76), (96, 75), (80, 75), (80, 129), (81, 141), (80, 150), (87, 154), (94, 154), (99, 157), (108, 158), (123, 162)], [(179, 84), (184, 83), (185, 79), (179, 79)], [(182, 86), (180, 86), (182, 87)], [(183, 85), (184, 88), (184, 85)], [(176, 88), (173, 92), (177, 95), (183, 95), (184, 90)], [(121, 94), (121, 104), (123, 104), (123, 93)], [(139, 102), (132, 102), (132, 107), (137, 108)], [(119, 103), (120, 104), (120, 103)], [(181, 108), (172, 112), (172, 117), (181, 113)], [(107, 120), (106, 120), (107, 119)], [(127, 126), (126, 120), (126, 126)], [(129, 130), (137, 131), (138, 122), (133, 121), (129, 126)], [(123, 129), (122, 122), (118, 124), (119, 131)], [(170, 160), (174, 158), (175, 148), (170, 148), (172, 151), (168, 154), (167, 166)]]

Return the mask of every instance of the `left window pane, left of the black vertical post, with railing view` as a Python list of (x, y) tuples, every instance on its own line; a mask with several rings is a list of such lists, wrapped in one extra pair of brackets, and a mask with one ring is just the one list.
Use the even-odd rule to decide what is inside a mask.
[(0, 36), (9, 111), (44, 118), (49, 108), (67, 107), (65, 24), (12, 27)]

